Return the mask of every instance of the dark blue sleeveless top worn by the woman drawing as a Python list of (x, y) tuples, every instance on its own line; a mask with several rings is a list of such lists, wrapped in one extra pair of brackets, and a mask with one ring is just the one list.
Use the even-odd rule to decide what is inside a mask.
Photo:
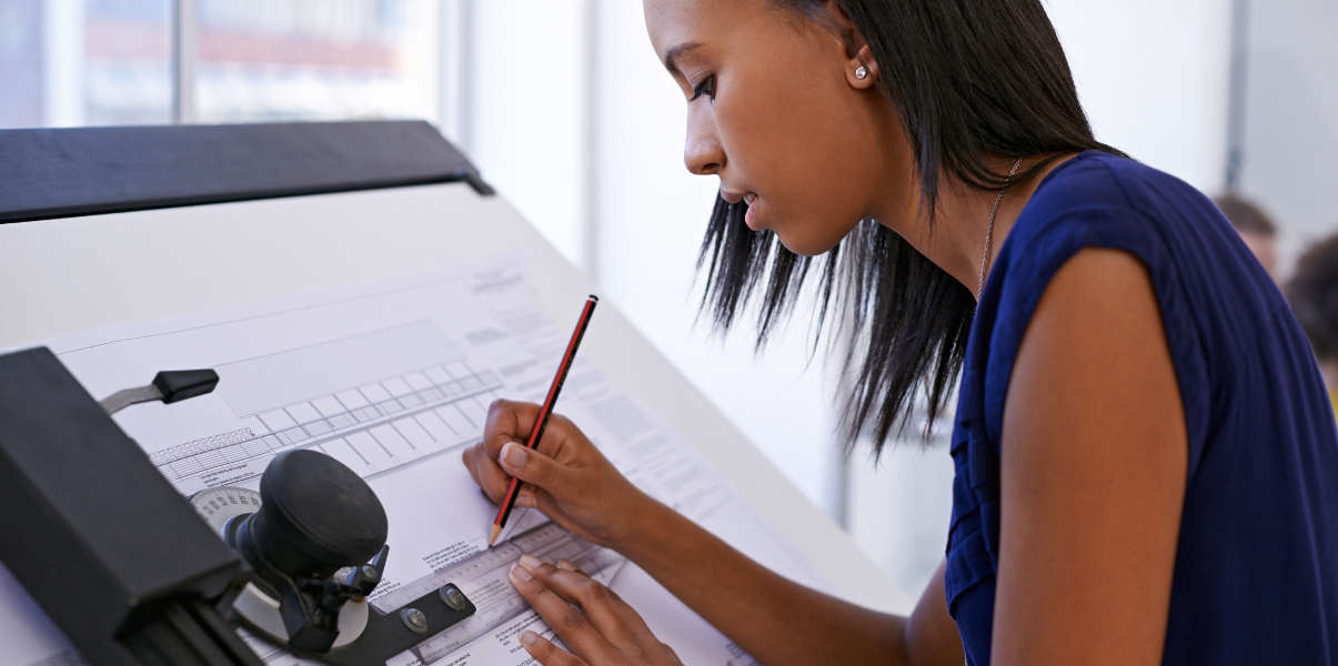
[(1310, 345), (1207, 198), (1096, 151), (1037, 189), (971, 326), (945, 575), (967, 663), (990, 663), (1013, 362), (1045, 286), (1084, 247), (1147, 266), (1188, 428), (1163, 663), (1338, 666), (1338, 432)]

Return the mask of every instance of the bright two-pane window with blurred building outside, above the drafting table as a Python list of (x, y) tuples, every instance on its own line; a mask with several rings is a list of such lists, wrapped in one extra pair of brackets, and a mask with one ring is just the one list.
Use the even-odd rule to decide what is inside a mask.
[[(193, 23), (177, 21), (190, 3)], [(0, 128), (421, 118), (443, 112), (446, 3), (5, 0)], [(191, 29), (187, 52), (174, 29)], [(195, 103), (174, 118), (174, 64)]]

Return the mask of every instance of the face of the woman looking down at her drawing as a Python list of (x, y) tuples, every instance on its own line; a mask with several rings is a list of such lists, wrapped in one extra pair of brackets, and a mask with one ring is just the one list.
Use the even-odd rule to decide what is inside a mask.
[(891, 185), (876, 68), (859, 79), (836, 32), (771, 0), (644, 3), (656, 53), (688, 99), (688, 170), (745, 201), (749, 227), (820, 254), (876, 213)]

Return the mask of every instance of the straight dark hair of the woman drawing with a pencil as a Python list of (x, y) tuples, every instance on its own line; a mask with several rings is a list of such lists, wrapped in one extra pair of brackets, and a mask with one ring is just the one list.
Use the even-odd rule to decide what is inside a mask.
[[(772, 0), (838, 31), (851, 55), (856, 32), (879, 63), (879, 86), (900, 115), (919, 189), (934, 219), (939, 174), (983, 190), (1008, 175), (986, 159), (1049, 155), (1014, 179), (1026, 181), (1058, 155), (1120, 154), (1092, 136), (1064, 49), (1040, 0), (834, 0), (854, 32), (831, 20), (826, 0)], [(823, 259), (800, 257), (772, 233), (744, 225), (747, 205), (717, 199), (698, 269), (701, 308), (728, 329), (761, 289), (759, 348), (795, 305), (812, 263), (822, 261), (816, 338), (828, 312), (840, 316), (847, 449), (868, 435), (875, 453), (909, 421), (917, 391), (939, 415), (962, 366), (975, 313), (970, 290), (872, 219)]]

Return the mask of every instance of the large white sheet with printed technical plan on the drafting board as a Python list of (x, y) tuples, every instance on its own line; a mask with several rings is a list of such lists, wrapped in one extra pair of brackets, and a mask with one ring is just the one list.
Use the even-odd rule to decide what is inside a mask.
[[(508, 586), (496, 584), (522, 551), (581, 558), (688, 663), (751, 663), (634, 564), (535, 511), (512, 512), (503, 534), (511, 542), (486, 552), (495, 507), (460, 464), (460, 452), (479, 440), (495, 397), (543, 397), (579, 306), (573, 304), (573, 322), (550, 321), (516, 265), (523, 263), (502, 258), (413, 284), (139, 324), (48, 345), (99, 397), (145, 384), (159, 369), (218, 370), (219, 386), (210, 396), (116, 416), (183, 495), (218, 485), (256, 488), (269, 460), (293, 448), (324, 451), (363, 475), (391, 519), (389, 564), (373, 604), (396, 607), (454, 576), (480, 607), (454, 633), (392, 659), (396, 666), (529, 663), (519, 633), (551, 631)], [(594, 364), (577, 360), (561, 411), (652, 495), (764, 564), (822, 584), (690, 444)], [(0, 631), (12, 663), (78, 663), (3, 567)], [(269, 663), (305, 663), (253, 645)]]

